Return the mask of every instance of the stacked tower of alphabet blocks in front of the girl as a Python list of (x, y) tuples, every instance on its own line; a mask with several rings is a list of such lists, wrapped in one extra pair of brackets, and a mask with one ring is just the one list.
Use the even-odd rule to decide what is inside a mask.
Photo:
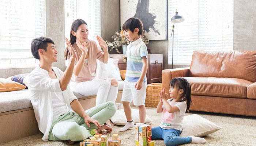
[(135, 126), (135, 146), (155, 146), (151, 140), (152, 131), (151, 125), (137, 123)]

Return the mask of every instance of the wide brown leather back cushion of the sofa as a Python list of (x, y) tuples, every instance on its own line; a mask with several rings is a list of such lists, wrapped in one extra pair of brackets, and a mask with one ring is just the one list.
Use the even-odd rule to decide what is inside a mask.
[(194, 51), (189, 77), (228, 77), (256, 82), (256, 51)]

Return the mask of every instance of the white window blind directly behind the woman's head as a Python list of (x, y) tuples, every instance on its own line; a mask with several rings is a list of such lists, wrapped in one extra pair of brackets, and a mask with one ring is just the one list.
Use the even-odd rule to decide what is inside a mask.
[(76, 19), (83, 19), (88, 24), (88, 38), (96, 41), (96, 36), (101, 35), (101, 1), (65, 0), (65, 37), (68, 39), (71, 24)]

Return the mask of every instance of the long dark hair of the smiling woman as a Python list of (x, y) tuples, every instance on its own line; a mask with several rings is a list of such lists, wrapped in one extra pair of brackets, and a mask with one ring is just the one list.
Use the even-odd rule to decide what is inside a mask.
[[(72, 35), (72, 31), (74, 31), (74, 32), (76, 32), (77, 31), (77, 29), (78, 29), (78, 27), (80, 26), (80, 25), (82, 25), (82, 24), (86, 24), (87, 25), (87, 23), (84, 21), (84, 20), (82, 20), (82, 19), (76, 19), (73, 23), (72, 23), (72, 25), (71, 25), (71, 29), (70, 29), (70, 39), (69, 39), (69, 41), (70, 41), (70, 43), (73, 45), (75, 42), (76, 42), (76, 37), (74, 36), (74, 35)], [(88, 25), (87, 25), (88, 26)], [(68, 59), (68, 57), (70, 56), (70, 53), (69, 53), (69, 51), (68, 51), (68, 47), (65, 49), (65, 55), (64, 55), (64, 57), (65, 57), (65, 59), (67, 60)]]

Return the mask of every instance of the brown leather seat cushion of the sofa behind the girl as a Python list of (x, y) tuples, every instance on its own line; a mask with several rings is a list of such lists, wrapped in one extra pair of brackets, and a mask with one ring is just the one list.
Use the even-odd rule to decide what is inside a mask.
[(251, 81), (239, 78), (185, 77), (191, 84), (191, 95), (246, 98)]

